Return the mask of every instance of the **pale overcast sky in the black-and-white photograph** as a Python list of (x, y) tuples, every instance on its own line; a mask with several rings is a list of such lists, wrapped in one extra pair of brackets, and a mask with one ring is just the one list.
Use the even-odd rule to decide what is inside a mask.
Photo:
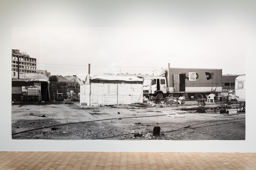
[(245, 28), (14, 27), (12, 49), (51, 75), (152, 74), (170, 67), (245, 74)]

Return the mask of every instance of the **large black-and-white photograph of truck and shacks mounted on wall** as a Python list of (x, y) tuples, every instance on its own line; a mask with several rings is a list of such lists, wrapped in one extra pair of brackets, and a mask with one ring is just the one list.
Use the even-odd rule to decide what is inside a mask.
[(245, 140), (245, 38), (243, 27), (13, 27), (12, 139)]

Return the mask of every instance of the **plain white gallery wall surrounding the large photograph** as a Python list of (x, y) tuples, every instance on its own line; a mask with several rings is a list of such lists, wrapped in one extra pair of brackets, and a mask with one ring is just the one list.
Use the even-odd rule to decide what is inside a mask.
[[(0, 2), (0, 151), (256, 152), (254, 1), (7, 1)], [(12, 140), (13, 27), (244, 27), (246, 29), (245, 141)], [(239, 60), (240, 59), (234, 59)]]

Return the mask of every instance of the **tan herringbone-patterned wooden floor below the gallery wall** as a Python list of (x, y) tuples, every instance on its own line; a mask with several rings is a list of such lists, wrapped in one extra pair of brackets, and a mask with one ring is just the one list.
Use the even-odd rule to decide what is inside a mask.
[(0, 169), (256, 169), (256, 153), (0, 152)]

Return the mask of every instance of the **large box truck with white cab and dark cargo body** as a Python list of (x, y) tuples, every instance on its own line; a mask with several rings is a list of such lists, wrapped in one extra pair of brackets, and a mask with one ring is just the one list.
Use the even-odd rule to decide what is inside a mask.
[(222, 69), (165, 68), (144, 79), (143, 95), (163, 94), (203, 99), (210, 93), (222, 92)]

